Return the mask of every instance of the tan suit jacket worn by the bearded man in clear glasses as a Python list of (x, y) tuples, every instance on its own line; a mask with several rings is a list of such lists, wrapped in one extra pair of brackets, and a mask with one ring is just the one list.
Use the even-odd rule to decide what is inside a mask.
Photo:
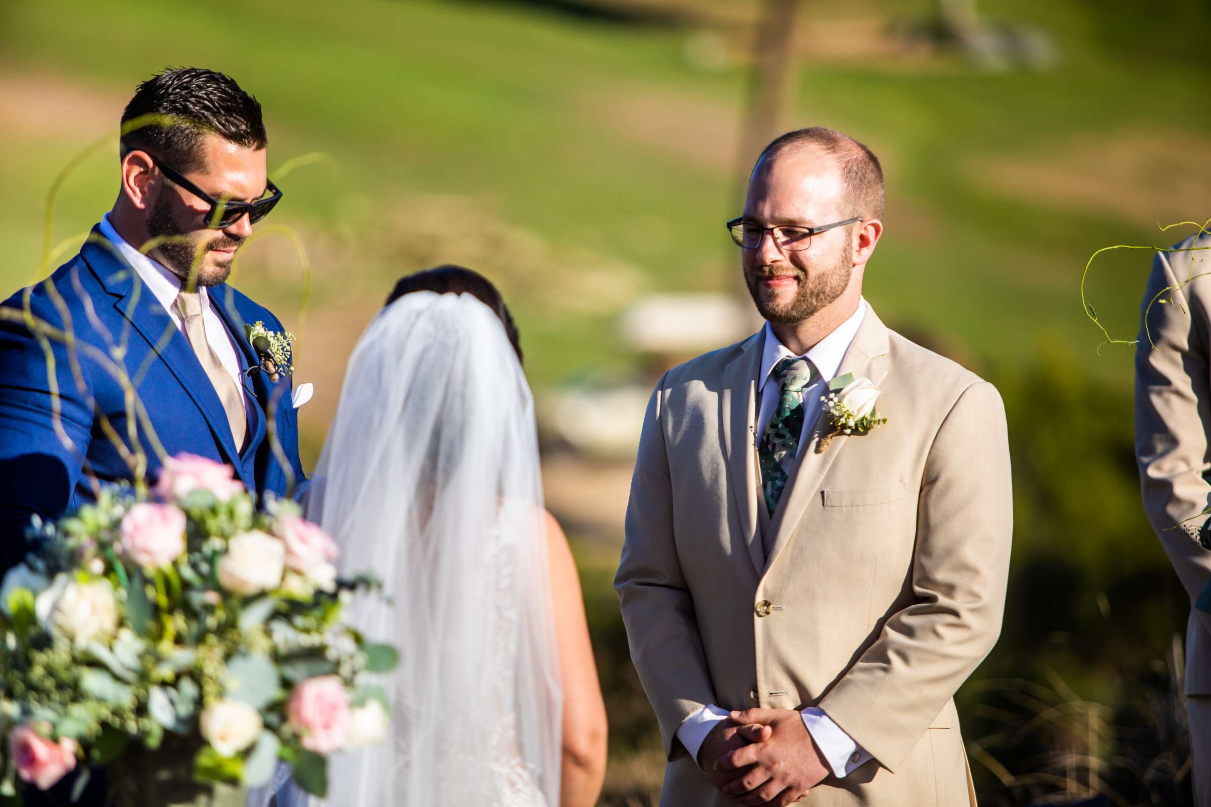
[(877, 384), (889, 422), (822, 453), (805, 442), (767, 559), (761, 351), (758, 333), (670, 370), (643, 425), (615, 588), (670, 760), (661, 805), (733, 803), (676, 739), (708, 703), (819, 705), (873, 755), (825, 779), (814, 806), (974, 803), (952, 696), (1000, 632), (1000, 397), (867, 311), (839, 375)]

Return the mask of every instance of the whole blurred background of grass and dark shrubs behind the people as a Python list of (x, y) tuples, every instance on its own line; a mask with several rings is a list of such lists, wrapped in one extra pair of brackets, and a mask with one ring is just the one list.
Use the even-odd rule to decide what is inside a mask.
[[(620, 311), (658, 292), (741, 294), (722, 223), (742, 203), (753, 0), (314, 0), (0, 4), (0, 293), (36, 279), (42, 200), (87, 143), (116, 132), (134, 85), (167, 67), (235, 76), (264, 104), (280, 183), (236, 284), (295, 332), (305, 463), (345, 359), (402, 273), (452, 261), (497, 281), (539, 394), (642, 377)], [(994, 70), (923, 46), (928, 0), (809, 1), (785, 123), (867, 143), (888, 175), (867, 298), (893, 327), (1001, 388), (1015, 460), (1011, 600), (993, 656), (960, 692), (982, 803), (1186, 803), (1180, 662), (1188, 601), (1146, 523), (1131, 446), (1132, 351), (1097, 351), (1078, 282), (1103, 246), (1169, 244), (1211, 217), (1211, 10), (1195, 0), (993, 0), (1054, 62)], [(116, 145), (57, 198), (56, 242), (116, 195)], [(1131, 339), (1147, 253), (1097, 264), (1091, 301)], [(638, 419), (639, 411), (633, 413)], [(612, 715), (606, 803), (654, 803), (655, 724), (610, 578), (625, 462), (552, 456)], [(576, 484), (580, 480), (580, 484)], [(550, 480), (549, 480), (550, 482)], [(602, 512), (596, 519), (586, 512)], [(590, 524), (590, 521), (593, 521)], [(578, 525), (587, 524), (585, 529)], [(1180, 655), (1180, 651), (1178, 651)], [(1186, 750), (1183, 750), (1186, 749)]]

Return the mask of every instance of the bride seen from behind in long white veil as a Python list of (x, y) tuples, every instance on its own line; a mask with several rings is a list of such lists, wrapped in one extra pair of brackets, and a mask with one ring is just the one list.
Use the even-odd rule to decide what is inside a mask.
[[(388, 599), (351, 613), (401, 661), (385, 742), (329, 763), (340, 805), (595, 803), (606, 710), (533, 398), (480, 275), (404, 277), (354, 350), (308, 517)], [(298, 803), (298, 791), (281, 792)]]

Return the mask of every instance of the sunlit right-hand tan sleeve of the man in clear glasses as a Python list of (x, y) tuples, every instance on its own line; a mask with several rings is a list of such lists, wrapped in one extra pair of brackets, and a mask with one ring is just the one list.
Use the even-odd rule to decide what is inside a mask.
[(1012, 518), (1005, 409), (980, 381), (959, 396), (925, 460), (913, 601), (819, 704), (890, 771), (997, 644)]

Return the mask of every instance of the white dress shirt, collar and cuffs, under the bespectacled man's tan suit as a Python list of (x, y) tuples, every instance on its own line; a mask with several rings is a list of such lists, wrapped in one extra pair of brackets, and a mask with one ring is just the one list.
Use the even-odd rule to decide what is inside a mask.
[[(803, 434), (809, 434), (815, 426), (816, 419), (823, 403), (820, 400), (828, 390), (828, 384), (837, 377), (837, 370), (849, 351), (854, 336), (857, 334), (862, 318), (866, 316), (866, 300), (859, 302), (855, 311), (845, 322), (840, 323), (831, 334), (821, 339), (811, 350), (799, 358), (807, 358), (815, 368), (811, 384), (803, 388)], [(759, 404), (757, 408), (758, 439), (765, 433), (770, 417), (780, 397), (777, 379), (774, 377), (774, 365), (787, 357), (793, 357), (786, 345), (777, 340), (774, 329), (767, 322), (764, 328), (764, 345), (762, 347), (761, 375), (757, 381), (757, 394)], [(803, 436), (799, 438), (799, 451), (803, 450)], [(865, 763), (871, 755), (861, 745), (832, 721), (823, 709), (808, 707), (799, 714), (803, 715), (803, 724), (807, 726), (811, 739), (820, 747), (821, 754), (828, 762), (828, 767), (838, 778), (844, 778), (854, 768)], [(699, 709), (677, 728), (677, 739), (681, 740), (685, 750), (694, 760), (698, 760), (698, 751), (702, 747), (706, 736), (711, 733), (714, 725), (721, 720), (727, 720), (728, 713), (719, 707), (708, 704)]]

